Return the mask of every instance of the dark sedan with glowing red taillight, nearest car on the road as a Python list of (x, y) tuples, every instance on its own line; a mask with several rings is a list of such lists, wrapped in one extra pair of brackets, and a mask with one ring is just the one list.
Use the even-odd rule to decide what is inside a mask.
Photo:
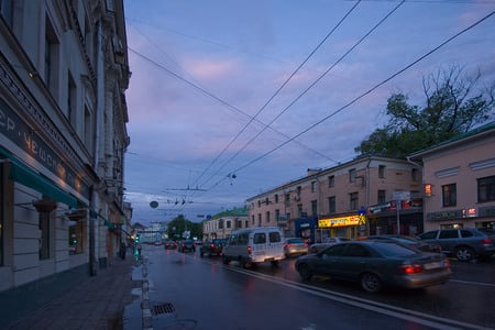
[(295, 267), (304, 280), (314, 275), (358, 282), (369, 293), (384, 286), (421, 288), (443, 284), (452, 275), (440, 253), (426, 253), (393, 241), (337, 243), (316, 254), (299, 256)]

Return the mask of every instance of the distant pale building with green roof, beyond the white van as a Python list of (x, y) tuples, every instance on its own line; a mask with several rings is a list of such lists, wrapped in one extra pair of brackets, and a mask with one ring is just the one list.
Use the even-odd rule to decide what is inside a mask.
[(227, 239), (232, 231), (249, 227), (248, 210), (234, 208), (205, 220), (202, 222), (202, 240)]

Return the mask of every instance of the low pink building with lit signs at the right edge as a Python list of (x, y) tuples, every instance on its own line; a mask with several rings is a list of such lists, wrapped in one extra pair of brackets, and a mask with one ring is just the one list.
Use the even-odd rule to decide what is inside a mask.
[(425, 230), (494, 228), (495, 122), (409, 158), (424, 167)]

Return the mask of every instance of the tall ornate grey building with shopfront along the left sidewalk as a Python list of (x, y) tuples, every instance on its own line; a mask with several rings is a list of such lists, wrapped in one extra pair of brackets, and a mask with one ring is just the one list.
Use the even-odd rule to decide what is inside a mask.
[(122, 0), (0, 1), (0, 290), (117, 256), (129, 78)]

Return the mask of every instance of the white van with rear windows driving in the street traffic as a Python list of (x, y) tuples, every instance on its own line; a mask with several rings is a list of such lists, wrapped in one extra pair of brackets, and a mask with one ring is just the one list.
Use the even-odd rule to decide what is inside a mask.
[(227, 265), (231, 261), (240, 265), (255, 265), (271, 262), (277, 265), (284, 254), (284, 234), (278, 227), (257, 227), (233, 231), (223, 246), (222, 260)]

